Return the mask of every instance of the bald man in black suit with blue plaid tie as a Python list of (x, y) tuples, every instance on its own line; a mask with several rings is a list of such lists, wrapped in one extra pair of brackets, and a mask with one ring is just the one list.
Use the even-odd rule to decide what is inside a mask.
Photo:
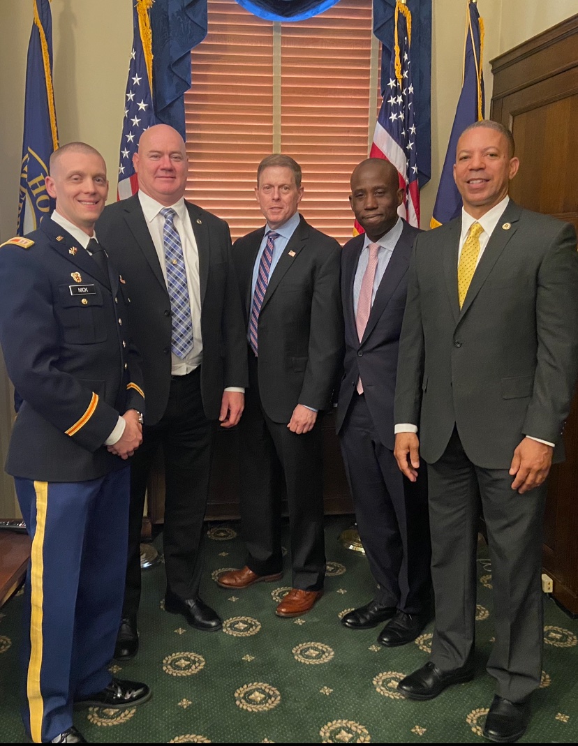
[(222, 627), (198, 596), (213, 422), (233, 427), (247, 383), (245, 330), (225, 222), (183, 198), (187, 157), (167, 125), (145, 131), (134, 155), (139, 192), (112, 204), (98, 236), (131, 293), (131, 325), (143, 360), (147, 411), (133, 460), (131, 524), (117, 659), (138, 648), (139, 542), (151, 462), (165, 462), (165, 609), (199, 630)]

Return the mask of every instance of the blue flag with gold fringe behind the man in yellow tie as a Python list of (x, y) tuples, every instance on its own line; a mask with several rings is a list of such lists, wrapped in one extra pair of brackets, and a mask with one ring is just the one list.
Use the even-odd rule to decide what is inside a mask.
[(453, 164), (456, 162), (456, 146), (462, 132), (469, 125), (484, 118), (486, 101), (482, 75), (483, 21), (474, 1), (468, 3), (468, 20), (465, 28), (465, 57), (462, 93), (453, 119), (450, 142), (445, 154), (442, 178), (439, 180), (436, 205), (433, 208), (431, 228), (453, 220), (462, 209), (462, 197), (453, 181)]

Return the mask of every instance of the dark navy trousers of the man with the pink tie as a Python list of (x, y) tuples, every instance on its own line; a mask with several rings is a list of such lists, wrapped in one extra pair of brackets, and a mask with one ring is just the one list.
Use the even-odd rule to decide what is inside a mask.
[(425, 465), (417, 482), (403, 477), (393, 452), (377, 436), (365, 396), (357, 393), (340, 439), (376, 598), (406, 614), (424, 612), (431, 604)]

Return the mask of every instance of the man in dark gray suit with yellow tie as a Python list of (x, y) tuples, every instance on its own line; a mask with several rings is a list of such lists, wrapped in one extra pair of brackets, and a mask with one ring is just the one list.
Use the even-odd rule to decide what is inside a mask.
[(545, 480), (564, 457), (578, 367), (576, 233), (509, 200), (518, 165), (496, 122), (460, 137), (462, 216), (415, 243), (395, 397), (400, 469), (415, 480), (418, 448), (428, 465), (436, 597), (430, 662), (399, 689), (427, 700), (474, 675), (481, 501), (497, 683), (484, 736), (496, 742), (525, 732), (540, 683)]

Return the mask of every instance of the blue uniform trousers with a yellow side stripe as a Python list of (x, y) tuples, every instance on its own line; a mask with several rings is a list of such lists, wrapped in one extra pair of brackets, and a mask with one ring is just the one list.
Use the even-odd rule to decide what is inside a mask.
[(128, 471), (86, 482), (14, 480), (32, 539), (22, 720), (36, 743), (71, 727), (74, 700), (110, 683), (125, 579)]

